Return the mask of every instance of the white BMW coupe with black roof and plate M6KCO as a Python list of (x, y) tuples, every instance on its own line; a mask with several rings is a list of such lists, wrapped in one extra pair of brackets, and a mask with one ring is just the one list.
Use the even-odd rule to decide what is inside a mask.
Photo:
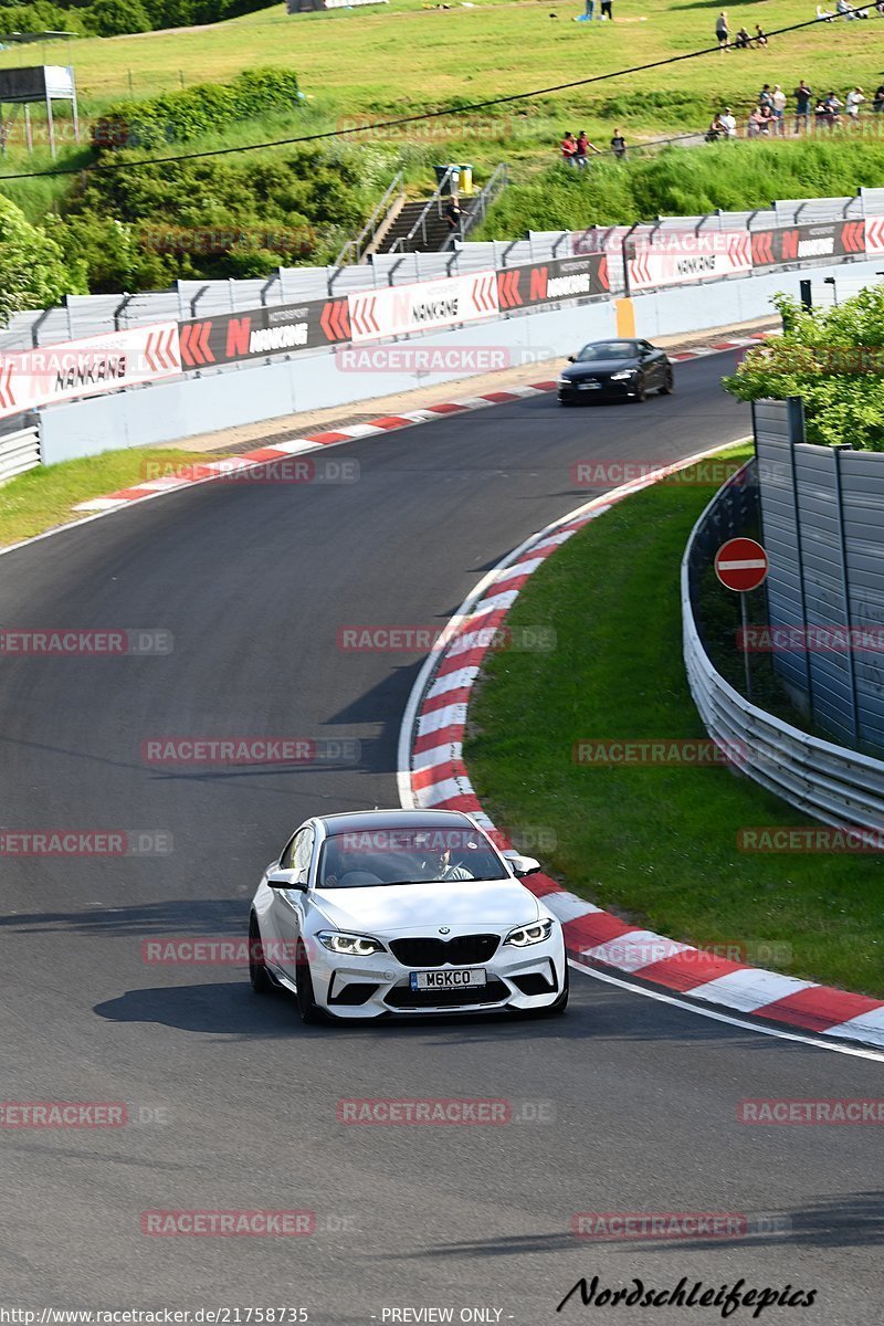
[(521, 883), (538, 870), (456, 810), (317, 815), (252, 900), (252, 988), (292, 991), (305, 1022), (563, 1013), (562, 927)]

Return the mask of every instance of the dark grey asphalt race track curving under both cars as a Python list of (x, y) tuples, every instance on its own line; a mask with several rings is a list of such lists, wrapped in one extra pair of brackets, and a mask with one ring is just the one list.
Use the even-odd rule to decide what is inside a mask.
[[(288, 998), (256, 998), (243, 967), (142, 959), (150, 939), (244, 936), (261, 869), (307, 814), (398, 804), (420, 659), (343, 652), (338, 630), (440, 625), (501, 556), (594, 496), (571, 481), (575, 461), (664, 463), (745, 435), (747, 408), (718, 386), (732, 363), (685, 363), (676, 395), (644, 406), (537, 396), (367, 439), (327, 453), (358, 460), (358, 483), (211, 484), (0, 558), (5, 627), (175, 640), (158, 658), (0, 660), (4, 827), (174, 838), (167, 857), (3, 861), (0, 1097), (126, 1102), (137, 1120), (0, 1130), (4, 1301), (302, 1307), (335, 1326), (428, 1307), (705, 1326), (720, 1307), (606, 1310), (579, 1294), (555, 1307), (580, 1276), (660, 1290), (742, 1277), (816, 1290), (766, 1323), (880, 1322), (875, 1127), (737, 1122), (744, 1098), (880, 1095), (880, 1062), (578, 973), (561, 1020), (307, 1029)], [(142, 743), (163, 735), (355, 737), (360, 758), (146, 765)], [(339, 1123), (335, 1103), (364, 1097), (504, 1099), (525, 1122)], [(315, 1233), (142, 1233), (146, 1211), (232, 1208), (314, 1211)], [(578, 1212), (771, 1221), (600, 1244), (573, 1235)]]

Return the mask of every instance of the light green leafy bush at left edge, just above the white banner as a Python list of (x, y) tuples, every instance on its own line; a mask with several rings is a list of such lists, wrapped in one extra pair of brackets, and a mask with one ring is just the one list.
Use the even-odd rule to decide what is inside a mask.
[(8, 198), (0, 198), (0, 321), (5, 325), (11, 313), (85, 293), (85, 264), (69, 265), (45, 231), (25, 220)]

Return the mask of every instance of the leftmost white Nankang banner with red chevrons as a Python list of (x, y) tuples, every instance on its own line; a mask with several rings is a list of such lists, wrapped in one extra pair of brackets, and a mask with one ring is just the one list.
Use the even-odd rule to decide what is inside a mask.
[(0, 354), (0, 418), (182, 371), (178, 322)]

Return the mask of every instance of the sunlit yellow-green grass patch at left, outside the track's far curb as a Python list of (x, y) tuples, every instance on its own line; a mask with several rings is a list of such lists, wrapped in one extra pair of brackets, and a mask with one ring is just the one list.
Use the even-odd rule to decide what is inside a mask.
[(146, 465), (155, 461), (167, 473), (170, 465), (193, 465), (220, 460), (225, 452), (205, 455), (176, 448), (106, 451), (101, 456), (65, 460), (60, 465), (38, 465), (0, 488), (0, 548), (33, 538), (56, 525), (82, 520), (87, 512), (74, 511), (81, 501), (103, 497), (121, 488), (134, 488), (144, 480)]

